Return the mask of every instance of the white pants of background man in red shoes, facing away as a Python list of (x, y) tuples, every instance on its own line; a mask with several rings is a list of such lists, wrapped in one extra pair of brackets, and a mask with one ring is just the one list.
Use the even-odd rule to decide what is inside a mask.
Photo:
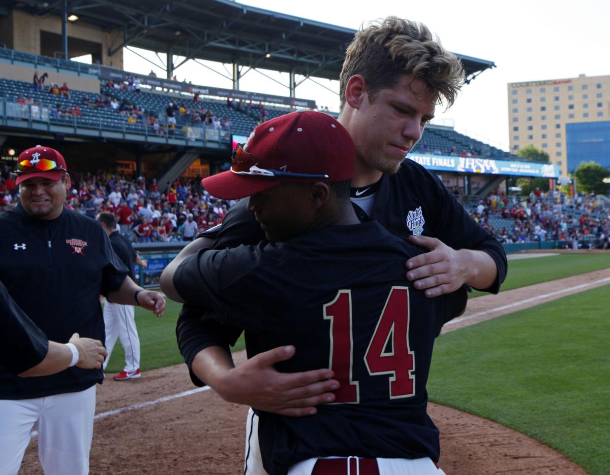
[(131, 373), (140, 369), (140, 337), (135, 328), (134, 306), (121, 305), (106, 300), (104, 304), (104, 325), (106, 326), (106, 351), (108, 356), (104, 360), (104, 370), (110, 361), (110, 354), (117, 338), (125, 350), (124, 371)]

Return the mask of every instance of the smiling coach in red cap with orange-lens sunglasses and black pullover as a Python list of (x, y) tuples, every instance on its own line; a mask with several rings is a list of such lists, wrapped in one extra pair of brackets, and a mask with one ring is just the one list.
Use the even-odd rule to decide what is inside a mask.
[[(127, 276), (99, 223), (63, 205), (71, 183), (61, 153), (24, 150), (16, 173), (20, 203), (0, 213), (0, 281), (49, 340), (78, 333), (104, 341), (100, 294), (162, 314), (162, 296)], [(46, 475), (87, 474), (103, 378), (101, 369), (74, 366), (28, 379), (0, 368), (0, 473), (17, 473), (36, 426)]]

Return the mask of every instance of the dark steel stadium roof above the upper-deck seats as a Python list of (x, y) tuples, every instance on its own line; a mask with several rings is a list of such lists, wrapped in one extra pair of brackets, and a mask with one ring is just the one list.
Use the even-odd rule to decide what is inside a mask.
[[(8, 0), (5, 12), (66, 16), (74, 13), (105, 30), (118, 30), (109, 54), (134, 46), (246, 68), (339, 79), (345, 49), (356, 30), (231, 0)], [(68, 10), (69, 9), (69, 10)], [(491, 61), (458, 54), (467, 82)], [(291, 76), (292, 76), (291, 74)]]

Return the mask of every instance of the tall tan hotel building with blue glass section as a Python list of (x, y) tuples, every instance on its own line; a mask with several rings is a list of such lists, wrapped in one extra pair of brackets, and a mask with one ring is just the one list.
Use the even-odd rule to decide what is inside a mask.
[(531, 144), (562, 175), (581, 161), (610, 168), (610, 76), (508, 84), (511, 152)]

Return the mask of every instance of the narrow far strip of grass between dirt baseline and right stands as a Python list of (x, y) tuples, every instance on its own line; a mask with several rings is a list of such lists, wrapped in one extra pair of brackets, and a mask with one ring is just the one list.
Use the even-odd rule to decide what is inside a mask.
[[(551, 251), (552, 252), (552, 251)], [(610, 267), (610, 252), (605, 254), (560, 254), (558, 256), (508, 261), (508, 275), (500, 291), (519, 289), (550, 280), (593, 272)], [(473, 290), (470, 298), (487, 295)]]

